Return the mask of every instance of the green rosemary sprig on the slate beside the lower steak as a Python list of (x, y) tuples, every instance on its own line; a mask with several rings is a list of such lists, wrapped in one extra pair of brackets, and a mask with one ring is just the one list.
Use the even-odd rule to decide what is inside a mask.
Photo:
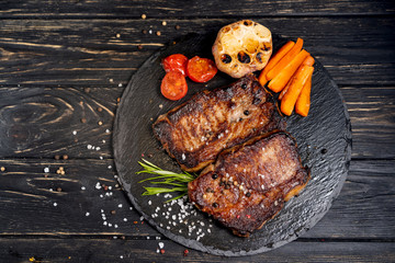
[(146, 192), (144, 192), (143, 195), (156, 195), (163, 193), (180, 192), (181, 195), (176, 196), (169, 201), (178, 199), (184, 196), (185, 194), (188, 194), (188, 183), (195, 179), (194, 174), (188, 173), (185, 171), (183, 171), (182, 173), (166, 171), (145, 159), (143, 159), (143, 162), (138, 162), (138, 164), (140, 164), (144, 170), (136, 172), (137, 174), (149, 173), (149, 174), (158, 175), (158, 176), (144, 179), (138, 183), (150, 181), (151, 184), (165, 184), (171, 186), (171, 187), (160, 187), (160, 186), (144, 187)]

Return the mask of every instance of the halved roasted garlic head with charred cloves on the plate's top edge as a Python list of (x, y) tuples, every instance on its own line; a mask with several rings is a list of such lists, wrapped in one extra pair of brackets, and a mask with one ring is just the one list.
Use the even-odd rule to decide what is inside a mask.
[(271, 54), (271, 32), (250, 20), (222, 27), (213, 46), (217, 68), (233, 78), (261, 70)]

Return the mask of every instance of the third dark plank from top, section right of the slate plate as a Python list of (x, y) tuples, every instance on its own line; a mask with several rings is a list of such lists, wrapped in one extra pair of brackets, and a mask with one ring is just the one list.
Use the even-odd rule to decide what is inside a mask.
[(352, 158), (394, 158), (395, 89), (343, 87), (341, 92), (351, 118)]

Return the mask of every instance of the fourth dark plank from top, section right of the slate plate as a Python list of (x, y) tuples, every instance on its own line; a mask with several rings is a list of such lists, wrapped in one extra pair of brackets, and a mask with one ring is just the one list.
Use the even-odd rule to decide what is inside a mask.
[(394, 167), (394, 161), (351, 161), (339, 197), (321, 221), (303, 237), (394, 237), (395, 204), (388, 203), (395, 195)]

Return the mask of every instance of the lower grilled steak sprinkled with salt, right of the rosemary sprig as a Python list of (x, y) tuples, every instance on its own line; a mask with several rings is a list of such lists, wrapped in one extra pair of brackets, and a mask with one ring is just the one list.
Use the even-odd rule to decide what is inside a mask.
[(237, 236), (248, 237), (307, 183), (296, 142), (286, 133), (259, 136), (223, 151), (188, 185), (189, 198)]

